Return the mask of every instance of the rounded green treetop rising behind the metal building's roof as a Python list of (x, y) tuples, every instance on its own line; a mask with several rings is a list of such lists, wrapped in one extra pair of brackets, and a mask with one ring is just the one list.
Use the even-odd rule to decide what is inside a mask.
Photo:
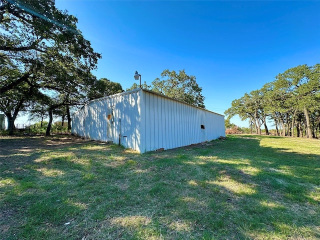
[(186, 102), (188, 104), (205, 108), (204, 96), (195, 76), (187, 75), (184, 70), (176, 73), (174, 70), (165, 69), (161, 73), (161, 79), (155, 78), (151, 83), (151, 90)]

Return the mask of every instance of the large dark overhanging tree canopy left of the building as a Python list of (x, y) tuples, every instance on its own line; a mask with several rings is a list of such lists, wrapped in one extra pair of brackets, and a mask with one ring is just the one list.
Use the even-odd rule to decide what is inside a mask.
[(83, 103), (101, 55), (76, 28), (76, 17), (57, 9), (54, 0), (2, 0), (0, 23), (1, 99), (32, 94), (33, 103), (47, 101), (49, 115), (54, 107)]

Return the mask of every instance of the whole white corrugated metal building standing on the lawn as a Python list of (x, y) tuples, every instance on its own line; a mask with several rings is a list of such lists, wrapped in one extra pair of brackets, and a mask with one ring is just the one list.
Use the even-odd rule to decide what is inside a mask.
[(89, 101), (73, 114), (71, 130), (141, 153), (213, 140), (224, 131), (223, 115), (141, 88)]

